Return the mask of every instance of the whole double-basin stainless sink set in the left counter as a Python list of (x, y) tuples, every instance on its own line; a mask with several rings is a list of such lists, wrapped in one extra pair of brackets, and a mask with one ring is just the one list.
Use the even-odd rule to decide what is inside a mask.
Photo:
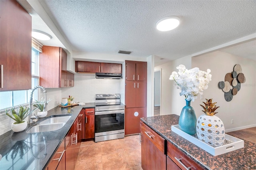
[(64, 127), (70, 117), (70, 115), (56, 115), (48, 117), (44, 121), (38, 123), (36, 126), (28, 128), (26, 133), (49, 132), (58, 130)]

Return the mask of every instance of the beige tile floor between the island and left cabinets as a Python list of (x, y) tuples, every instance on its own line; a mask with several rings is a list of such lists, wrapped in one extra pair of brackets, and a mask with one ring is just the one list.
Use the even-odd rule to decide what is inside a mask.
[(142, 170), (139, 134), (82, 142), (75, 170)]

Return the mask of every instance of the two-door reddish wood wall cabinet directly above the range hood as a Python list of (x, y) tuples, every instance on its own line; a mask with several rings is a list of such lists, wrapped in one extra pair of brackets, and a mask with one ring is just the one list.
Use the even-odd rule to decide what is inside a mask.
[(76, 61), (76, 72), (122, 73), (122, 64)]

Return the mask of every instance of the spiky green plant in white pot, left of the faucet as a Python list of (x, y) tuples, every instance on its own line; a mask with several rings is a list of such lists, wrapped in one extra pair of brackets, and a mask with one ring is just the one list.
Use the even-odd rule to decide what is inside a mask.
[(29, 112), (29, 108), (23, 107), (23, 106), (19, 106), (16, 109), (16, 111), (15, 109), (16, 107), (12, 107), (12, 109), (10, 109), (10, 113), (6, 109), (5, 113), (8, 117), (12, 118), (15, 121), (14, 123), (12, 123), (12, 126), (11, 126), (12, 130), (14, 132), (20, 132), (24, 130), (28, 125), (28, 122), (25, 121), (24, 119), (28, 117), (28, 115), (30, 115), (33, 111)]

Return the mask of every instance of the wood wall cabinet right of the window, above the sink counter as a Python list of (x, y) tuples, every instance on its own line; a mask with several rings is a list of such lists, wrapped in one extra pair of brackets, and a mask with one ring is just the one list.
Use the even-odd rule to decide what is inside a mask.
[(67, 53), (60, 47), (44, 45), (40, 53), (40, 85), (46, 88), (70, 87)]

